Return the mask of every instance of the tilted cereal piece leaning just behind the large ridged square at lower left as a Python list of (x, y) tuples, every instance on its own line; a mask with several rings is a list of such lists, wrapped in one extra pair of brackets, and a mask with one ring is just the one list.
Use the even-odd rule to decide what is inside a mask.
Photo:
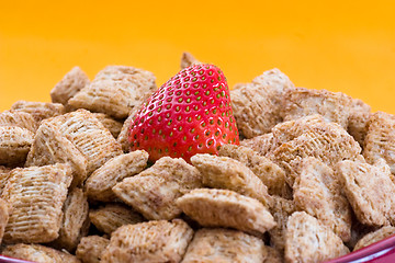
[(64, 136), (50, 121), (43, 121), (37, 129), (25, 167), (69, 163), (72, 169), (72, 186), (87, 178), (88, 161), (77, 147)]

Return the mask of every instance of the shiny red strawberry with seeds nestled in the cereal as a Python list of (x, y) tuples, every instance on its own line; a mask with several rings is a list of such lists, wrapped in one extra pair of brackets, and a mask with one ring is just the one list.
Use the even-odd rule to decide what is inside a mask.
[(189, 161), (239, 144), (224, 73), (214, 65), (193, 65), (172, 77), (143, 105), (129, 128), (131, 150), (144, 149)]

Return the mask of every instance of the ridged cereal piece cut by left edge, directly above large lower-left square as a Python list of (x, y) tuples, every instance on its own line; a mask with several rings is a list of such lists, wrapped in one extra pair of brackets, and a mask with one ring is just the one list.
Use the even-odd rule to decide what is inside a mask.
[(19, 165), (26, 161), (34, 134), (16, 126), (0, 126), (0, 165)]

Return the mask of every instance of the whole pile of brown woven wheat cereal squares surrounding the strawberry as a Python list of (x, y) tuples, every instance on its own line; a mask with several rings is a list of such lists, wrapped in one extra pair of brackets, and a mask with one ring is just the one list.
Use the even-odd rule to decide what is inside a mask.
[[(184, 54), (181, 67), (199, 64)], [(35, 262), (321, 262), (395, 233), (395, 116), (278, 69), (230, 91), (240, 145), (129, 152), (151, 72), (74, 68), (0, 113), (1, 254)]]

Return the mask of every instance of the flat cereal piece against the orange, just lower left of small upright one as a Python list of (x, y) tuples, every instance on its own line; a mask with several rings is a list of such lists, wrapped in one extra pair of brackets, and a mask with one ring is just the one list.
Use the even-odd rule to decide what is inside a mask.
[(55, 117), (66, 113), (65, 106), (60, 103), (47, 102), (18, 101), (12, 104), (11, 108), (32, 114), (37, 123), (45, 118)]

